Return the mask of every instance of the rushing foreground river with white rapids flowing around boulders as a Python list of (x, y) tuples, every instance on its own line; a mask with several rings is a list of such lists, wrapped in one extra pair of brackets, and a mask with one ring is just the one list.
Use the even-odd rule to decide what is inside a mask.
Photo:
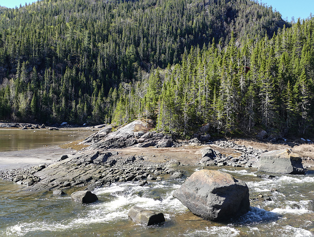
[[(250, 198), (262, 194), (270, 201), (251, 201), (250, 211), (229, 223), (194, 216), (172, 193), (199, 167), (184, 166), (181, 180), (117, 183), (93, 190), (99, 201), (81, 205), (47, 193), (21, 191), (22, 185), (0, 180), (0, 236), (184, 236), (184, 237), (312, 237), (314, 236), (314, 172), (262, 179), (256, 169), (212, 169), (246, 182)], [(209, 168), (209, 167), (207, 167)], [(272, 191), (275, 188), (277, 191)], [(73, 190), (65, 190), (71, 194)], [(166, 222), (146, 227), (132, 222), (132, 206), (161, 211)]]

